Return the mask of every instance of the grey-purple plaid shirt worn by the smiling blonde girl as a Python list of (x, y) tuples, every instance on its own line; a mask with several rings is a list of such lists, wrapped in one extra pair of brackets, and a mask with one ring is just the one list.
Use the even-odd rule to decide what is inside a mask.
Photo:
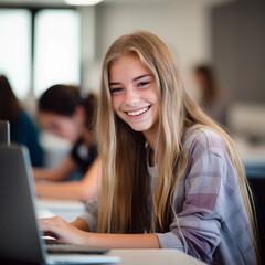
[[(172, 214), (169, 232), (156, 233), (160, 246), (177, 248), (208, 264), (256, 264), (251, 225), (223, 139), (212, 130), (190, 128), (183, 147), (188, 166), (174, 192), (178, 218)], [(148, 165), (148, 172), (151, 214), (157, 167)], [(88, 202), (87, 210), (80, 218), (96, 232), (96, 200)]]

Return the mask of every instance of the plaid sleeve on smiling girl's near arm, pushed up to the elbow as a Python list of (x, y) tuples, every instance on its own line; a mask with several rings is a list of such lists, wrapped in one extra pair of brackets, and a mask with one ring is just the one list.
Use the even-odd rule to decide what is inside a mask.
[[(224, 219), (225, 203), (223, 179), (225, 163), (215, 153), (204, 152), (194, 160), (186, 174), (182, 210), (170, 225), (170, 232), (157, 233), (162, 248), (178, 248), (199, 259), (211, 262), (220, 243), (220, 227)], [(177, 211), (176, 211), (177, 212)]]

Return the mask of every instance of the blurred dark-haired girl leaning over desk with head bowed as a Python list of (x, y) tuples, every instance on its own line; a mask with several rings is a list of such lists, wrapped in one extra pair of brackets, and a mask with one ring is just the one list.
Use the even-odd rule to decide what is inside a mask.
[[(83, 93), (76, 86), (57, 84), (40, 97), (40, 124), (50, 132), (70, 140), (73, 148), (54, 169), (33, 169), (39, 197), (86, 201), (96, 194), (99, 163), (94, 134), (96, 113), (97, 96)], [(63, 181), (73, 174), (76, 177), (76, 170), (80, 179)]]

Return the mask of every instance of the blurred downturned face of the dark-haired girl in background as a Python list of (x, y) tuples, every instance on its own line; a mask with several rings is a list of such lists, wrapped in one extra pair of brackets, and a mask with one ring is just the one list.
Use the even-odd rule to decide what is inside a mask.
[(39, 118), (43, 128), (55, 136), (68, 139), (73, 144), (82, 135), (82, 125), (75, 115), (67, 117), (54, 113), (41, 112)]

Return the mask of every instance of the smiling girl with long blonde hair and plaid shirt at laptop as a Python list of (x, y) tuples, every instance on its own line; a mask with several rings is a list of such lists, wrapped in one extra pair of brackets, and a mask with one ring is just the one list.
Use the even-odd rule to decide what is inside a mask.
[(56, 242), (177, 248), (206, 264), (256, 264), (248, 186), (229, 135), (189, 96), (169, 47), (123, 35), (103, 62), (102, 191), (75, 222), (40, 219)]

